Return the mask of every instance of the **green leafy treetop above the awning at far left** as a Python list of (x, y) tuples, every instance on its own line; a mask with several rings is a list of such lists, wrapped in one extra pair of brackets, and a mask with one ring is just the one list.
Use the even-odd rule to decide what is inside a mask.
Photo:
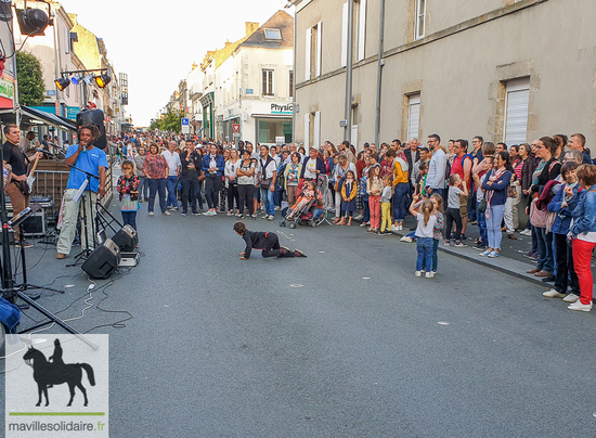
[(43, 74), (41, 63), (33, 53), (16, 52), (18, 103), (25, 106), (43, 105)]

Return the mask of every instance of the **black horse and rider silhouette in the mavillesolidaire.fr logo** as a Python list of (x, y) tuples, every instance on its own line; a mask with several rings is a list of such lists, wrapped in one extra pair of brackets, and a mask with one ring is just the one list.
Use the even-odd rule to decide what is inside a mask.
[(87, 372), (87, 377), (91, 386), (95, 386), (93, 368), (88, 363), (64, 363), (62, 360), (62, 346), (59, 339), (54, 340), (54, 353), (50, 356), (52, 362), (48, 362), (46, 356), (34, 347), (29, 347), (23, 359), (27, 365), (34, 369), (34, 379), (37, 383), (37, 391), (39, 394), (39, 400), (36, 407), (41, 404), (41, 395), (46, 396), (46, 405), (49, 405), (48, 388), (64, 383), (68, 384), (68, 389), (70, 390), (70, 400), (68, 400), (68, 404), (66, 404), (67, 407), (73, 404), (75, 387), (79, 388), (82, 392), (85, 405), (88, 404), (87, 390), (81, 384), (82, 370)]

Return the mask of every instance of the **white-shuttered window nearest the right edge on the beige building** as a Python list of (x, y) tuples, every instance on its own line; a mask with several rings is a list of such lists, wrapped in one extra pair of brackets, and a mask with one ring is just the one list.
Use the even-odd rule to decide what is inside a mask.
[(503, 141), (506, 144), (524, 143), (528, 137), (528, 112), (530, 106), (530, 78), (508, 80), (505, 83), (505, 128)]

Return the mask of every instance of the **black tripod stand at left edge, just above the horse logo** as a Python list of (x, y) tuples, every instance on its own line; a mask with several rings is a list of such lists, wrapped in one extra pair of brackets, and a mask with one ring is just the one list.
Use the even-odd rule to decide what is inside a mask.
[[(4, 163), (3, 147), (0, 147), (0, 163)], [(33, 212), (34, 212), (33, 209), (29, 208), (29, 216)], [(21, 216), (22, 216), (22, 220), (25, 220), (26, 217), (28, 217), (27, 214), (21, 215)], [(14, 222), (16, 224), (16, 218), (15, 218)], [(5, 198), (4, 198), (3, 188), (2, 188), (2, 190), (0, 190), (0, 224), (2, 226), (2, 262), (1, 262), (1, 266), (0, 266), (0, 272), (2, 272), (2, 289), (1, 289), (2, 296), (7, 300), (9, 300), (10, 302), (13, 302), (13, 304), (16, 301), (16, 298), (21, 298), (29, 307), (33, 307), (34, 309), (36, 309), (38, 312), (40, 312), (41, 314), (43, 314), (46, 318), (48, 318), (50, 320), (50, 321), (46, 321), (41, 324), (38, 324), (34, 327), (27, 328), (22, 333), (30, 332), (33, 330), (36, 330), (38, 327), (41, 327), (43, 325), (48, 325), (48, 324), (51, 324), (51, 323), (56, 323), (57, 325), (60, 325), (61, 327), (66, 330), (68, 333), (77, 336), (80, 340), (86, 343), (88, 346), (90, 346), (94, 350), (100, 348), (98, 345), (95, 345), (94, 343), (89, 340), (87, 337), (85, 337), (83, 335), (78, 333), (75, 328), (73, 328), (70, 325), (66, 324), (64, 321), (62, 321), (55, 314), (51, 313), (49, 310), (47, 310), (46, 308), (43, 308), (40, 305), (38, 305), (37, 302), (35, 302), (31, 297), (29, 297), (28, 295), (26, 295), (23, 292), (23, 291), (26, 289), (26, 284), (27, 284), (26, 273), (25, 273), (26, 272), (25, 265), (23, 265), (24, 284), (22, 285), (22, 287), (15, 287), (14, 278), (13, 278), (13, 274), (12, 274), (11, 253), (10, 253), (10, 248), (9, 248), (9, 224), (7, 223), (7, 203), (5, 203)], [(23, 228), (22, 227), (20, 227), (20, 233), (21, 233), (21, 239), (23, 239)], [(22, 241), (22, 242), (24, 242), (24, 241)], [(24, 248), (22, 248), (22, 250)], [(23, 263), (25, 263), (24, 254), (22, 255), (22, 260), (23, 260)], [(61, 291), (57, 291), (57, 292), (61, 292)]]

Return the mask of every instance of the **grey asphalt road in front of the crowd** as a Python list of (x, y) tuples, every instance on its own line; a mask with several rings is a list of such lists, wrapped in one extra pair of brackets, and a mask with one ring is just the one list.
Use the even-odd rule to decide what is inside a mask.
[[(241, 261), (224, 215), (143, 210), (138, 223), (145, 256), (102, 304), (133, 318), (91, 332), (111, 335), (113, 437), (596, 435), (594, 314), (539, 285), (445, 254), (417, 279), (415, 245), (359, 227), (249, 220), (309, 257)], [(28, 254), (33, 265), (42, 249)], [(56, 311), (88, 280), (54, 257), (29, 280), (75, 275), (40, 298)], [(72, 324), (122, 318), (93, 308)]]

